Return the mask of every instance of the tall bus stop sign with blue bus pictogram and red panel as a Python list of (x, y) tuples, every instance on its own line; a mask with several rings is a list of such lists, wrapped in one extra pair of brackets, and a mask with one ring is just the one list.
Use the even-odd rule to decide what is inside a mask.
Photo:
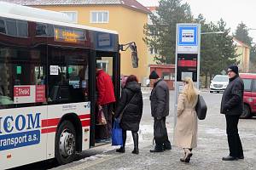
[(201, 25), (195, 23), (177, 24), (176, 29), (176, 63), (175, 63), (175, 97), (174, 111), (176, 124), (177, 97), (183, 91), (183, 79), (191, 77), (199, 88), (200, 76)]

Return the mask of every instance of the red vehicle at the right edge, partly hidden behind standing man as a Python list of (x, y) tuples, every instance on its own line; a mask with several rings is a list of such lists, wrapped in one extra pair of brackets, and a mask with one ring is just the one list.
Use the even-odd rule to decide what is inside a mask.
[(244, 83), (243, 112), (241, 118), (250, 118), (256, 114), (256, 74), (239, 74)]

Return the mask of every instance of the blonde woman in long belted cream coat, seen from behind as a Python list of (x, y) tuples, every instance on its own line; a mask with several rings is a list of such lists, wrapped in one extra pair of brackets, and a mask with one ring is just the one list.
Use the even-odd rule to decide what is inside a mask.
[(183, 148), (184, 156), (180, 161), (189, 162), (192, 149), (197, 146), (197, 115), (195, 105), (198, 100), (198, 90), (191, 78), (183, 80), (183, 93), (177, 102), (177, 124), (175, 127), (174, 144)]

